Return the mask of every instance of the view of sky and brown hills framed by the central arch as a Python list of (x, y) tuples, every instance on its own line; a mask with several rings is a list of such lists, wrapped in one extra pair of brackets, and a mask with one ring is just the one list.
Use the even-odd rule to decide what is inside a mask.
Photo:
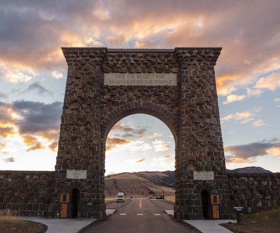
[(151, 114), (115, 122), (105, 139), (105, 202), (118, 193), (125, 199), (164, 195), (175, 202), (175, 139), (169, 127)]

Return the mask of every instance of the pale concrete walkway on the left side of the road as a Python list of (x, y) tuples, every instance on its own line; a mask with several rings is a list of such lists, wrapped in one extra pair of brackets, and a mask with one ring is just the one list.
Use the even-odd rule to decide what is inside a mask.
[[(115, 210), (106, 210), (107, 215), (112, 215)], [(20, 220), (41, 223), (47, 226), (46, 233), (77, 233), (89, 227), (96, 219), (44, 219), (36, 217), (16, 217)]]

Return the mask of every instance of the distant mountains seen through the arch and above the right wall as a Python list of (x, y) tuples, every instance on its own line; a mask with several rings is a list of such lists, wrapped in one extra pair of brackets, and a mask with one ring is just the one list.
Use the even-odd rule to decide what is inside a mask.
[[(226, 169), (232, 173), (272, 173), (260, 167)], [(123, 192), (129, 196), (175, 195), (175, 171), (164, 172), (123, 172), (105, 177), (105, 196), (115, 197)]]

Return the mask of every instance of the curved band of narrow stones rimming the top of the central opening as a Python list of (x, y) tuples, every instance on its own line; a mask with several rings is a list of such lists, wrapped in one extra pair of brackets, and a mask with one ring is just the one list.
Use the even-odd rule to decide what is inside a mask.
[(143, 101), (142, 103), (139, 103), (137, 101), (125, 103), (111, 111), (101, 122), (100, 136), (101, 139), (104, 140), (103, 142), (106, 141), (107, 135), (115, 123), (126, 116), (136, 113), (143, 113), (154, 116), (165, 123), (174, 137), (175, 145), (177, 144), (179, 135), (178, 120), (173, 116), (172, 113), (170, 113), (160, 105), (145, 101)]

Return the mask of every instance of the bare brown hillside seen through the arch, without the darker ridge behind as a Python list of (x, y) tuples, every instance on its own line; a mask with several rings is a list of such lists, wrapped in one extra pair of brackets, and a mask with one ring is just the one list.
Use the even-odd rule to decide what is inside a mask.
[(107, 176), (105, 177), (105, 196), (115, 197), (119, 192), (123, 192), (126, 198), (147, 197), (150, 194), (173, 196), (174, 189), (158, 184), (166, 175), (160, 176), (157, 173), (160, 172), (155, 172), (155, 174), (149, 172), (120, 173)]

